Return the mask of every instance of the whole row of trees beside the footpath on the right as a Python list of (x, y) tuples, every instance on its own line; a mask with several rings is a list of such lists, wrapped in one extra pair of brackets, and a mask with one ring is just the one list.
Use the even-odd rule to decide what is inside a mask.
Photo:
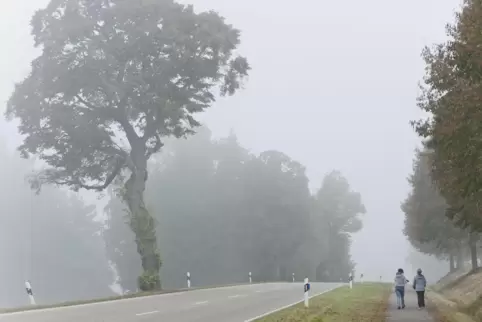
[(482, 3), (465, 0), (449, 39), (425, 48), (426, 75), (412, 122), (423, 138), (402, 209), (417, 249), (446, 258), (450, 269), (478, 267), (482, 232)]

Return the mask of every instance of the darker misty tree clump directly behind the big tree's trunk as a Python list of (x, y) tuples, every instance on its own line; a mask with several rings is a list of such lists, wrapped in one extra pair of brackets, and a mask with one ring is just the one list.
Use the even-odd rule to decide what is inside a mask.
[[(213, 140), (207, 128), (166, 144), (150, 164), (147, 207), (162, 257), (163, 287), (254, 281), (346, 280), (354, 269), (350, 234), (361, 229), (360, 195), (338, 172), (315, 195), (305, 168), (278, 151), (259, 155), (234, 134)], [(125, 290), (141, 271), (127, 209), (112, 193), (106, 207), (109, 259)]]

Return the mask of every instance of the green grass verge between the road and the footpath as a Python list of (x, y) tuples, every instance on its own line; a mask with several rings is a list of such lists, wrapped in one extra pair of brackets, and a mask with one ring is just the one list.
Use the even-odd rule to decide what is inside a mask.
[(276, 312), (256, 322), (385, 322), (388, 284), (355, 284), (310, 299), (310, 307), (303, 303)]

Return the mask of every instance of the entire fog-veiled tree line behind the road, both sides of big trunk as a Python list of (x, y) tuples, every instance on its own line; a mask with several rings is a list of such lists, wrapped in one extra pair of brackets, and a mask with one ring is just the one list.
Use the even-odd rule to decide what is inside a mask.
[[(28, 304), (29, 279), (39, 304), (137, 291), (142, 272), (127, 206), (109, 192), (105, 221), (76, 193), (30, 190), (33, 162), (5, 148), (0, 214), (0, 307)], [(304, 167), (278, 151), (249, 153), (234, 135), (214, 140), (207, 128), (168, 140), (149, 165), (147, 207), (155, 219), (162, 286), (254, 281), (345, 280), (354, 270), (350, 235), (361, 229), (360, 195), (336, 171), (315, 194)], [(117, 280), (115, 279), (117, 276)]]

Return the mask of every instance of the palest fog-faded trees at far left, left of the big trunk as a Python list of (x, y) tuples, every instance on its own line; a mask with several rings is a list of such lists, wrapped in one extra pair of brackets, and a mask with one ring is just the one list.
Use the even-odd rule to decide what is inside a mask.
[(29, 304), (31, 281), (38, 304), (113, 295), (112, 269), (94, 206), (77, 194), (25, 182), (34, 163), (0, 147), (0, 307)]

